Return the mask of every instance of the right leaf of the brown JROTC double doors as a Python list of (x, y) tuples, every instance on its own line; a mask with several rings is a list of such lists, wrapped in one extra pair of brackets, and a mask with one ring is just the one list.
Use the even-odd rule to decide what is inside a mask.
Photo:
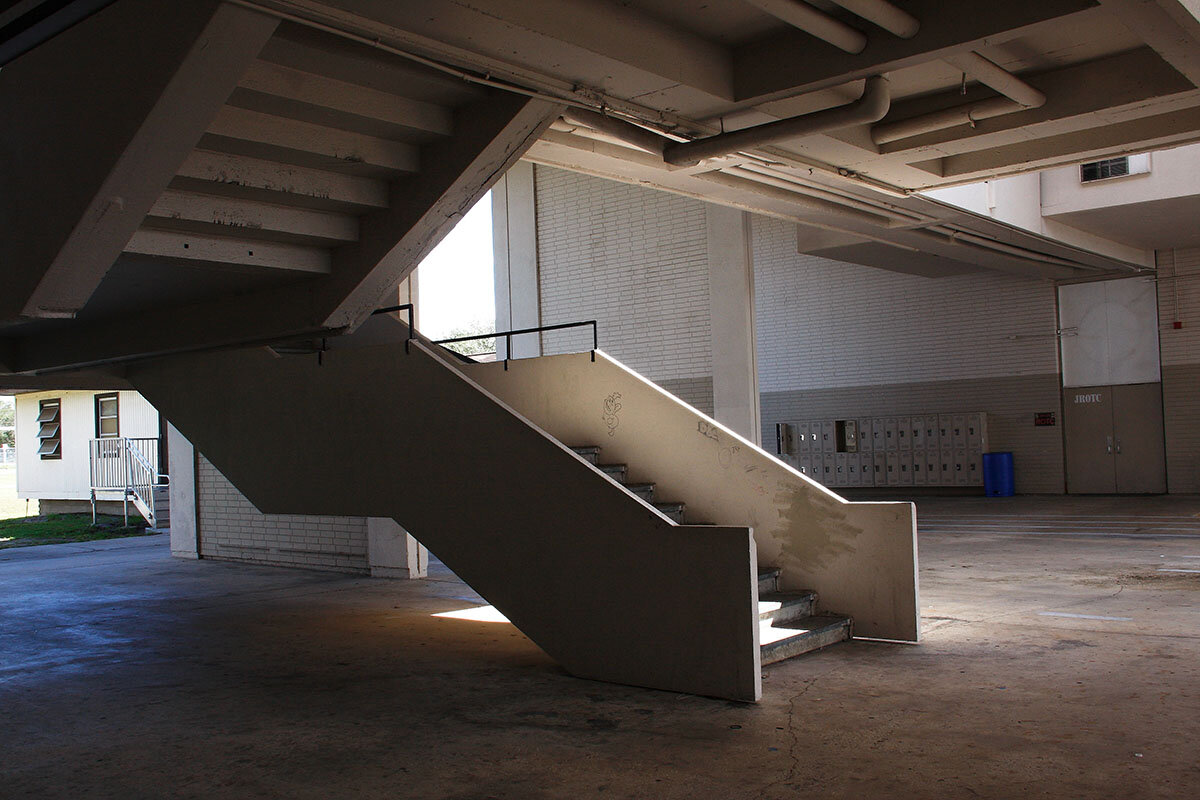
[(1117, 492), (1166, 492), (1162, 384), (1112, 387), (1112, 449)]

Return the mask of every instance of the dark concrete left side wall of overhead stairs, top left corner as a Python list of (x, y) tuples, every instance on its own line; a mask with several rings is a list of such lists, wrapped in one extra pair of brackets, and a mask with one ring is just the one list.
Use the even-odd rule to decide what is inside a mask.
[[(88, 302), (276, 20), (125, 0), (0, 71), (0, 318)], [(54, 102), (47, 102), (53, 97)], [(83, 134), (82, 132), (86, 132)]]

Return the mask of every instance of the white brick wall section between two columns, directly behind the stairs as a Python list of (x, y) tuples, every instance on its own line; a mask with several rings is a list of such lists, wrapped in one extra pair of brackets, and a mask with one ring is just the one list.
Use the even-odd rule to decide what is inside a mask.
[[(654, 381), (712, 377), (704, 205), (546, 167), (536, 193), (542, 324), (598, 320), (601, 349)], [(590, 336), (547, 333), (544, 351)]]

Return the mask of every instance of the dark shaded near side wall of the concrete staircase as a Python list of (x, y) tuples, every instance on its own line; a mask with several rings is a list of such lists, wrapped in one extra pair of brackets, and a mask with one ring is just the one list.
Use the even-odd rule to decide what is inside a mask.
[(758, 698), (745, 525), (677, 525), (421, 342), (355, 341), (128, 379), (260, 511), (394, 518), (571, 673)]

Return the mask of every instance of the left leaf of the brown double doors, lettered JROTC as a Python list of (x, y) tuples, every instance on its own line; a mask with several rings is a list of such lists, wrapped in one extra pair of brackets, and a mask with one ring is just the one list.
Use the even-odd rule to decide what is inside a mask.
[(1067, 492), (1111, 494), (1117, 491), (1112, 387), (1080, 386), (1063, 392)]

